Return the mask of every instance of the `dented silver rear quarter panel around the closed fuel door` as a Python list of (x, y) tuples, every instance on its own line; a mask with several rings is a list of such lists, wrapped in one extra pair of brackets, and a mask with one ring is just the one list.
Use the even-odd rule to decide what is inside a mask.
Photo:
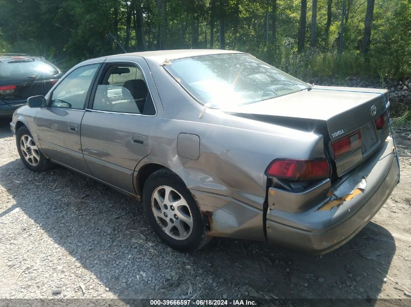
[[(147, 60), (148, 61), (148, 60)], [(311, 133), (240, 118), (197, 103), (158, 61), (148, 61), (164, 107), (156, 144), (144, 163), (167, 163), (190, 190), (232, 196), (265, 198), (265, 170), (276, 158), (324, 157), (323, 139)], [(179, 157), (179, 133), (200, 138), (199, 159)], [(253, 199), (253, 196), (246, 196)], [(255, 199), (254, 199), (255, 200)], [(258, 203), (261, 206), (261, 199)]]

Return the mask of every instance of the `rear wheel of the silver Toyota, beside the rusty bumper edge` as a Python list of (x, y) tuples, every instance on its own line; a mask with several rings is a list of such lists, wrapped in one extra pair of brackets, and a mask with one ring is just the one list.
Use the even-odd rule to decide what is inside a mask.
[(153, 173), (143, 188), (144, 212), (161, 241), (182, 252), (194, 252), (211, 238), (193, 195), (172, 171)]

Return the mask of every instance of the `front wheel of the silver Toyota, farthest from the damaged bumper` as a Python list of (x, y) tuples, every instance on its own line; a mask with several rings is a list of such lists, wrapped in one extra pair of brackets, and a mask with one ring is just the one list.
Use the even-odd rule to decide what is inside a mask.
[(24, 165), (32, 172), (44, 172), (55, 166), (40, 151), (29, 129), (20, 127), (16, 132), (18, 155)]

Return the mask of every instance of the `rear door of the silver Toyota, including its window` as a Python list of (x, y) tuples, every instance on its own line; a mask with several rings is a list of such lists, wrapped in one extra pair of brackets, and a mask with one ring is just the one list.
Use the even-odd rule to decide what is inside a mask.
[(158, 118), (148, 66), (108, 58), (93, 92), (81, 123), (84, 158), (94, 177), (135, 193), (133, 172), (151, 152)]

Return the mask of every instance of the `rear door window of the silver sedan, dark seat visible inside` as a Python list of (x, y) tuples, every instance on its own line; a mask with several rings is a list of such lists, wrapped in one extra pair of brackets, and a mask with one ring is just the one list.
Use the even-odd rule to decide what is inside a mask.
[(155, 115), (142, 71), (131, 65), (111, 65), (97, 86), (93, 110)]

